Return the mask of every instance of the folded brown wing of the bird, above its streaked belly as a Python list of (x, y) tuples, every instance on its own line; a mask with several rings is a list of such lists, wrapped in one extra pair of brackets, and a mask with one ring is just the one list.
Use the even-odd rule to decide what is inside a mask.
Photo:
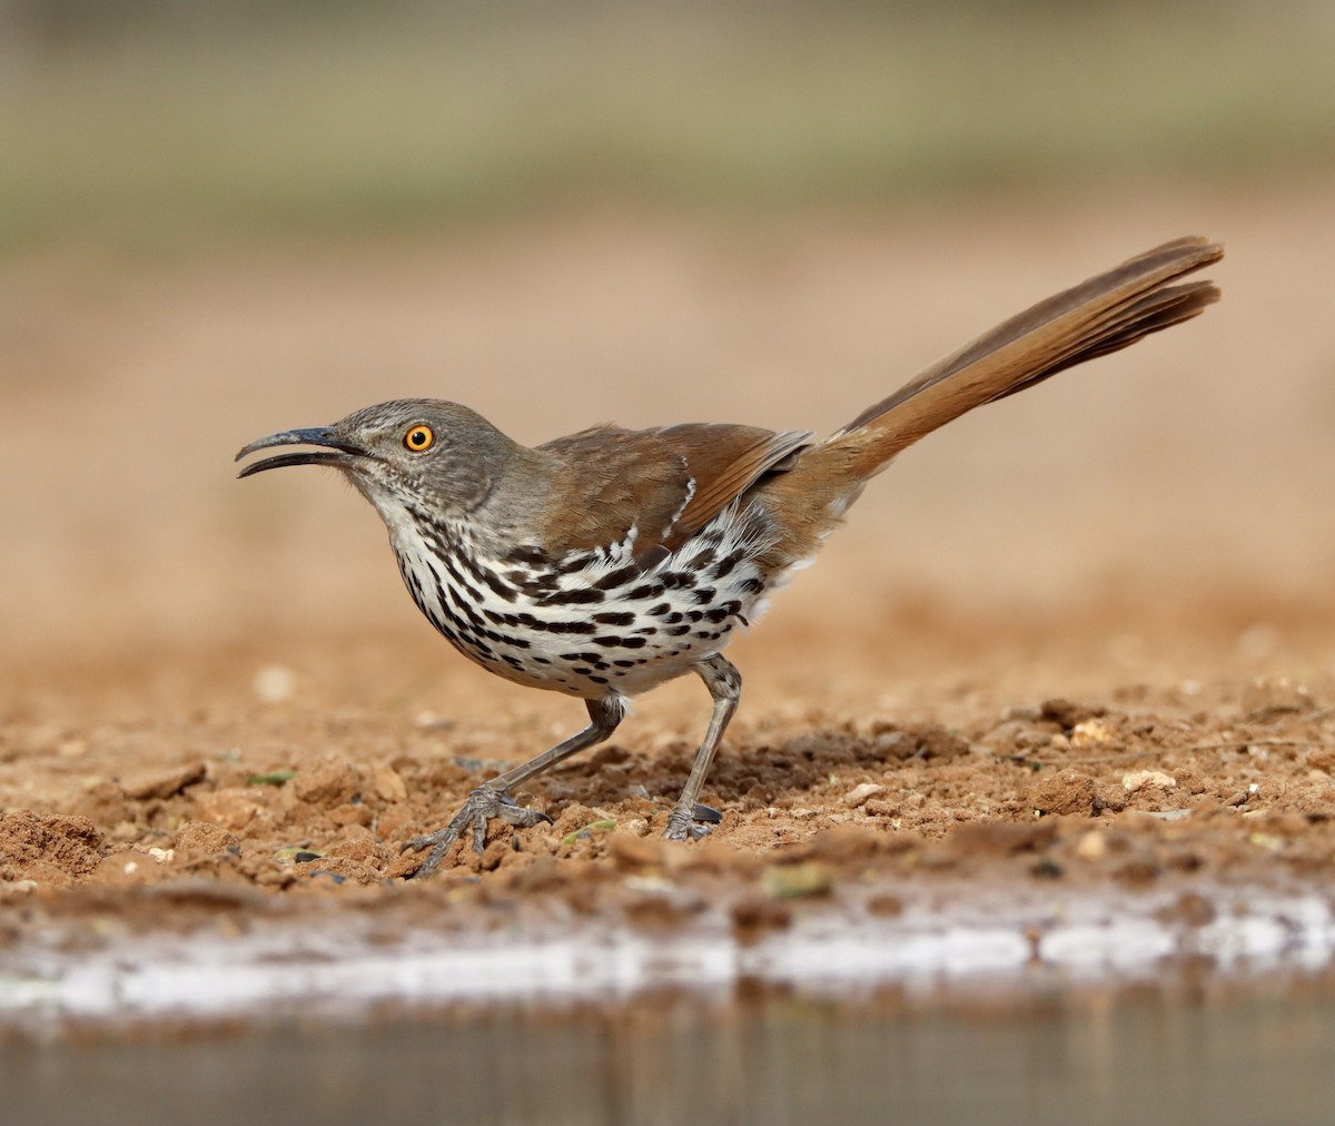
[(680, 548), (766, 473), (789, 469), (809, 431), (682, 423), (657, 430), (598, 426), (546, 442), (561, 467), (543, 536), (559, 553), (605, 548), (637, 529), (635, 556), (651, 562)]

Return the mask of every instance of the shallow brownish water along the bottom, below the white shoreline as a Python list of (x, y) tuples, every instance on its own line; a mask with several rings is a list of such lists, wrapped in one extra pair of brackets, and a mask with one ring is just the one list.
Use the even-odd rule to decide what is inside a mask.
[(8, 1122), (1328, 1122), (1335, 1002), (643, 998), (0, 1051)]

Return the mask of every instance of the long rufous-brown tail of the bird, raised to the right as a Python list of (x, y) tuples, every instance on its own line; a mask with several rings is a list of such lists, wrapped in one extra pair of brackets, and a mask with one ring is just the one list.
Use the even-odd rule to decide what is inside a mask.
[(1039, 302), (864, 410), (804, 462), (849, 484), (865, 481), (967, 410), (1196, 317), (1219, 290), (1169, 283), (1223, 255), (1207, 238), (1175, 239)]

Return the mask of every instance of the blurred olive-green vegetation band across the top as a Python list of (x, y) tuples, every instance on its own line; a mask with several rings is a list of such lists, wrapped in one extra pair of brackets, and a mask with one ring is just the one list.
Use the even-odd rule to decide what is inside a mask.
[(1320, 3), (0, 0), (0, 244), (1335, 164)]

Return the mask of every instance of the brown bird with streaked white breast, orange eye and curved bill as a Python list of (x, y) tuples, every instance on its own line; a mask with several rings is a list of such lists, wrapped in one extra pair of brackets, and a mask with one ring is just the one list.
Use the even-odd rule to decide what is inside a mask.
[(347, 477), (379, 513), (422, 613), (465, 657), (519, 685), (575, 696), (589, 723), (474, 788), (443, 828), (405, 851), (434, 872), (489, 825), (549, 821), (513, 792), (609, 739), (627, 700), (686, 673), (713, 708), (663, 836), (698, 840), (720, 820), (700, 803), (741, 700), (724, 656), (772, 596), (809, 565), (868, 482), (932, 430), (1075, 365), (1179, 325), (1218, 301), (1204, 236), (1167, 242), (1012, 317), (820, 439), (809, 430), (599, 425), (538, 446), (466, 406), (394, 399), (328, 425), (250, 442), (250, 477), (295, 465)]

